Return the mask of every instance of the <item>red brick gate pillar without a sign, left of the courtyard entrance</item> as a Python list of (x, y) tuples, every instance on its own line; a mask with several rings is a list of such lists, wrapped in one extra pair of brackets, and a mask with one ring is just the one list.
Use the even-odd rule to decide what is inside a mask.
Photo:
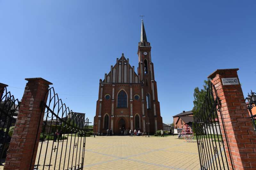
[[(19, 114), (5, 159), (4, 169), (28, 170), (34, 146), (34, 153), (36, 154), (37, 152), (39, 140), (36, 141), (36, 145), (35, 140), (42, 110), (40, 103), (44, 101), (44, 96), (52, 83), (42, 78), (28, 78), (25, 80), (28, 82), (20, 103)], [(45, 100), (47, 100), (47, 97), (45, 97)], [(43, 118), (44, 116), (42, 115), (41, 119)], [(39, 126), (39, 132), (41, 132), (41, 126), (42, 124)], [(38, 133), (38, 139), (39, 136), (40, 133)], [(34, 157), (32, 169), (34, 168), (35, 160), (36, 158)]]

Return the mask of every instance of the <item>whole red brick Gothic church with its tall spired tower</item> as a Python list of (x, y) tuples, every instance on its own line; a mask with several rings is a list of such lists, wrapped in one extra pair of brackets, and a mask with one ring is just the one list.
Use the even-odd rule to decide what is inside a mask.
[(138, 46), (139, 67), (134, 66), (124, 54), (116, 59), (110, 72), (100, 79), (94, 131), (106, 133), (112, 129), (114, 135), (130, 129), (155, 133), (163, 129), (151, 46), (147, 41), (143, 20)]

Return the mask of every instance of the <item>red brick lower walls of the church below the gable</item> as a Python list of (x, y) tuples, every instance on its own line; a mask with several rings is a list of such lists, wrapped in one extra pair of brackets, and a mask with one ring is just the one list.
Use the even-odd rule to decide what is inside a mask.
[[(135, 84), (135, 83), (102, 83), (103, 86), (100, 85), (99, 90), (101, 89), (101, 87), (103, 88), (103, 94), (102, 94), (102, 109), (101, 109), (101, 117), (99, 116), (99, 104), (100, 104), (100, 92), (99, 92), (99, 100), (97, 101), (97, 107), (96, 107), (96, 116), (94, 117), (94, 122), (97, 122), (97, 126), (94, 126), (94, 131), (98, 132), (98, 120), (100, 119), (101, 123), (100, 123), (100, 131), (103, 133), (106, 133), (106, 130), (103, 129), (103, 122), (104, 122), (104, 115), (106, 113), (108, 113), (109, 116), (111, 116), (111, 99), (112, 99), (112, 88), (113, 88), (113, 84), (115, 85), (115, 92), (114, 92), (114, 116), (115, 117), (110, 117), (109, 119), (109, 128), (111, 127), (111, 119), (113, 119), (113, 128), (112, 131), (115, 134), (119, 134), (120, 133), (120, 129), (118, 127), (118, 121), (120, 120), (119, 116), (123, 116), (122, 118), (124, 118), (124, 120), (126, 121), (126, 128), (130, 129), (131, 128), (131, 120), (133, 122), (133, 129), (135, 128), (135, 115), (139, 114), (140, 115), (140, 131), (148, 131), (147, 129), (147, 125), (146, 125), (146, 129), (143, 129), (143, 119), (147, 120), (146, 122), (148, 122), (147, 117), (150, 118), (150, 131), (152, 133), (155, 132), (155, 117), (154, 117), (154, 108), (153, 108), (153, 101), (152, 101), (152, 95), (151, 95), (151, 109), (147, 109), (147, 104), (146, 104), (146, 90), (144, 89), (144, 111), (145, 111), (145, 116), (146, 117), (142, 117), (142, 96), (141, 96), (141, 88), (144, 88), (143, 84)], [(132, 87), (132, 101), (130, 101), (130, 88)], [(117, 94), (118, 92), (124, 89), (124, 91), (127, 93), (127, 97), (128, 97), (128, 105), (127, 108), (117, 108)], [(157, 91), (156, 87), (155, 87), (155, 92)], [(105, 99), (105, 95), (109, 94), (111, 97), (110, 99)], [(139, 100), (135, 100), (134, 99), (134, 95), (139, 95), (140, 99)], [(132, 103), (132, 115), (133, 117), (130, 117), (130, 104)], [(162, 122), (162, 117), (160, 116), (160, 105), (159, 102), (155, 102), (156, 103), (156, 113), (157, 113), (157, 129), (163, 129), (163, 122)], [(121, 113), (121, 111), (123, 111), (123, 113)], [(118, 117), (117, 117), (118, 116)], [(138, 129), (136, 129), (138, 131)]]

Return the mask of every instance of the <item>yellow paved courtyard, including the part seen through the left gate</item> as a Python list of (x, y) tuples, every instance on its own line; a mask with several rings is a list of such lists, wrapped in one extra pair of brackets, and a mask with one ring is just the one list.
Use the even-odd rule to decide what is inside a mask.
[[(43, 142), (43, 145), (40, 142), (36, 157), (38, 169), (42, 170), (43, 165), (45, 165), (44, 169), (67, 169), (67, 167), (75, 165), (72, 162), (81, 160), (82, 153), (79, 154), (79, 151), (76, 151), (79, 147), (74, 147), (76, 143), (77, 146), (80, 145), (80, 138), (74, 140), (73, 137), (71, 145), (70, 141), (64, 140), (59, 145), (49, 141), (48, 146), (47, 141)], [(164, 138), (155, 136), (150, 138), (141, 136), (87, 137), (84, 169), (199, 170), (200, 164), (196, 144), (196, 142), (188, 143), (185, 140), (177, 139), (177, 136)], [(41, 145), (42, 150), (38, 164)], [(55, 146), (56, 148), (59, 147), (59, 151), (53, 152)], [(62, 148), (62, 152), (60, 148)], [(47, 154), (45, 155), (46, 150)], [(73, 152), (76, 156), (73, 156)], [(3, 169), (3, 166), (0, 166), (1, 169)]]

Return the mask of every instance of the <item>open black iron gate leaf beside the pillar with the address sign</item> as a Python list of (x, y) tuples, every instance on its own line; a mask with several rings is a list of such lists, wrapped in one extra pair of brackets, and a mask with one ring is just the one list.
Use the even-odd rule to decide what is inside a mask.
[[(215, 98), (215, 99), (214, 99)], [(198, 146), (201, 169), (229, 169), (227, 156), (230, 158), (230, 150), (227, 143), (226, 153), (221, 134), (218, 114), (223, 119), (220, 109), (220, 99), (214, 85), (209, 81), (204, 102), (199, 112), (194, 113), (194, 131)], [(225, 127), (223, 125), (225, 133)], [(225, 140), (227, 141), (227, 135)], [(232, 159), (230, 159), (232, 160)], [(231, 168), (234, 169), (233, 163)]]

